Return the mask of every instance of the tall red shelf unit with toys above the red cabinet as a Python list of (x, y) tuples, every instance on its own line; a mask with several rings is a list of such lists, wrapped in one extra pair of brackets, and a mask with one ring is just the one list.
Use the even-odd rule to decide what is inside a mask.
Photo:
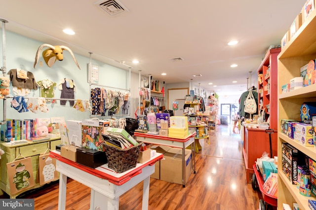
[(268, 50), (257, 70), (258, 113), (265, 109), (265, 120), (270, 117), (272, 129), (277, 129), (277, 55), (280, 51), (280, 47)]

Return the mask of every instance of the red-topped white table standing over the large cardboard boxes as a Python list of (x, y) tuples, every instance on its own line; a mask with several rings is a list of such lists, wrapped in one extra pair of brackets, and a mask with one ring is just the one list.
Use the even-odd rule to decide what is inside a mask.
[(185, 149), (193, 144), (191, 150), (193, 151), (193, 170), (196, 174), (196, 158), (195, 158), (195, 136), (197, 135), (196, 132), (190, 134), (186, 138), (177, 139), (177, 138), (170, 138), (167, 136), (159, 136), (147, 133), (139, 133), (135, 132), (134, 136), (136, 137), (137, 141), (156, 144), (156, 145), (165, 145), (169, 147), (181, 148), (182, 149), (182, 183), (183, 187), (185, 187), (185, 174), (186, 174), (186, 163), (185, 163)]

